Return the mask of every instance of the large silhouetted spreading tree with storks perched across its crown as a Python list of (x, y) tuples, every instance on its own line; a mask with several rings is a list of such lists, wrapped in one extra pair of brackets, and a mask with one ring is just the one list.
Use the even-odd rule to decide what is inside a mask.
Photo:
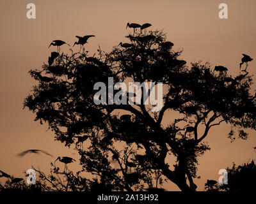
[[(189, 66), (162, 31), (135, 32), (126, 38), (131, 44), (127, 48), (114, 47), (109, 53), (99, 48), (97, 57), (71, 50), (51, 66), (29, 71), (38, 85), (24, 107), (36, 113), (35, 120), (49, 125), (56, 140), (68, 147), (76, 144), (80, 164), (92, 174), (95, 189), (142, 190), (167, 178), (182, 191), (195, 191), (197, 158), (210, 149), (203, 142), (209, 129), (227, 122), (233, 139), (236, 129), (243, 139), (248, 136), (244, 128), (255, 129), (252, 77), (232, 77), (226, 69), (214, 71), (209, 63)], [(151, 112), (142, 103), (95, 105), (93, 85), (108, 84), (108, 77), (114, 83), (163, 82), (163, 108)], [(143, 97), (143, 89), (141, 93)], [(172, 117), (174, 113), (179, 117)], [(124, 114), (130, 116), (121, 119)], [(167, 126), (163, 120), (168, 120)], [(198, 128), (204, 128), (201, 135)], [(83, 135), (88, 136), (85, 148), (77, 145), (77, 136)], [(174, 164), (168, 163), (168, 154), (176, 158)]]

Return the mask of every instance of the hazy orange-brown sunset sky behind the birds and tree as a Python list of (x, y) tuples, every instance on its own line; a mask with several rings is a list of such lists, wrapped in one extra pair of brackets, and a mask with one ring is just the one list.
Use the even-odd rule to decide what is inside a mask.
[[(26, 5), (36, 5), (36, 19), (26, 18)], [(228, 19), (218, 18), (218, 5), (227, 3)], [(228, 73), (239, 73), (242, 53), (256, 58), (256, 1), (255, 0), (159, 0), (159, 1), (0, 1), (0, 170), (15, 177), (24, 177), (22, 171), (31, 165), (49, 168), (51, 157), (28, 155), (23, 159), (15, 154), (26, 149), (44, 149), (57, 156), (76, 157), (75, 150), (54, 142), (54, 135), (33, 119), (35, 115), (22, 110), (22, 102), (35, 82), (29, 69), (40, 68), (56, 47), (47, 48), (52, 40), (73, 44), (75, 36), (95, 34), (86, 49), (93, 55), (98, 45), (109, 51), (125, 41), (127, 22), (149, 22), (152, 29), (164, 29), (174, 50), (184, 49), (180, 58), (187, 62), (209, 61), (212, 66), (223, 65)], [(79, 47), (77, 46), (77, 50)], [(67, 52), (67, 47), (61, 47)], [(256, 74), (256, 60), (248, 71)], [(253, 77), (256, 80), (255, 77)], [(253, 86), (255, 89), (255, 85)], [(196, 179), (198, 190), (204, 189), (207, 179), (218, 179), (218, 171), (232, 165), (255, 159), (253, 146), (255, 131), (246, 141), (230, 143), (227, 125), (212, 128), (207, 138), (211, 147), (199, 159)], [(70, 166), (76, 167), (77, 164)], [(0, 180), (3, 182), (3, 179)], [(173, 184), (168, 190), (179, 190)]]

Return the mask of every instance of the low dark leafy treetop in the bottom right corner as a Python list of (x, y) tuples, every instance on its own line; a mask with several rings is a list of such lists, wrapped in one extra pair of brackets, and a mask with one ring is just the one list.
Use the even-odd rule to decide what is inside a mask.
[(227, 168), (228, 184), (205, 185), (206, 191), (255, 192), (256, 165), (254, 161)]

